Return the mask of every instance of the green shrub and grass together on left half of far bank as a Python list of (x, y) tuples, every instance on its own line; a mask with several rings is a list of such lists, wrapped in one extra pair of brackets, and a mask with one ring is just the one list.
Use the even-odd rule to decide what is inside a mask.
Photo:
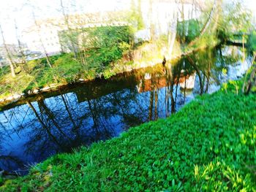
[[(72, 39), (78, 39), (82, 31), (73, 30)], [(29, 61), (24, 66), (26, 72), (16, 69), (16, 77), (10, 75), (9, 67), (0, 69), (0, 97), (6, 97), (15, 93), (23, 93), (36, 88), (43, 88), (50, 84), (67, 84), (76, 82), (80, 77), (91, 80), (95, 77), (105, 78), (113, 76), (114, 65), (132, 48), (132, 31), (129, 26), (105, 26), (83, 29), (86, 38), (83, 42), (83, 50), (80, 55), (86, 55), (86, 64), (76, 58), (78, 53), (63, 53), (50, 56), (53, 68), (47, 64), (46, 58)], [(61, 42), (67, 42), (65, 49), (71, 49), (70, 38), (62, 31)], [(74, 45), (77, 46), (77, 43)], [(64, 48), (64, 47), (63, 47)], [(76, 50), (78, 50), (76, 48)], [(18, 71), (19, 70), (19, 71)], [(20, 82), (22, 82), (20, 84)], [(19, 86), (18, 86), (19, 84)]]

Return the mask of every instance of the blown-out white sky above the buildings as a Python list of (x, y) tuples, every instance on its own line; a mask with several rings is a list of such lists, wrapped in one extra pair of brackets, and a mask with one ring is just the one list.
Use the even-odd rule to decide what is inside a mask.
[[(242, 1), (256, 16), (256, 0)], [(68, 7), (69, 12), (98, 12), (127, 9), (130, 0), (63, 0), (63, 4)], [(0, 24), (7, 43), (16, 43), (16, 31), (20, 34), (33, 23), (33, 11), (36, 18), (54, 18), (61, 15), (60, 0), (0, 0), (0, 7)], [(0, 38), (0, 45), (1, 43)]]

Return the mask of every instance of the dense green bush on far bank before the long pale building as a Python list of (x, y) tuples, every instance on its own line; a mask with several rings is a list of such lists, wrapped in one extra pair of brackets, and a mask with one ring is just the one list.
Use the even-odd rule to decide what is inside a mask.
[(86, 50), (87, 63), (96, 72), (102, 72), (110, 63), (117, 61), (131, 47), (129, 42), (133, 39), (132, 31), (127, 26), (122, 27), (98, 27), (87, 31), (84, 47), (92, 47)]

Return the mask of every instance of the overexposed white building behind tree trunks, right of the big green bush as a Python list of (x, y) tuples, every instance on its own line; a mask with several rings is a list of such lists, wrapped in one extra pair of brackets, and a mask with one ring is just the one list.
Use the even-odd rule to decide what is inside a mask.
[[(201, 11), (206, 9), (205, 3), (200, 0), (141, 0), (141, 13), (144, 28), (136, 34), (137, 39), (150, 39), (151, 26), (154, 26), (155, 34), (167, 34), (175, 31), (177, 22), (200, 17)], [(184, 13), (184, 15), (181, 14)]]

